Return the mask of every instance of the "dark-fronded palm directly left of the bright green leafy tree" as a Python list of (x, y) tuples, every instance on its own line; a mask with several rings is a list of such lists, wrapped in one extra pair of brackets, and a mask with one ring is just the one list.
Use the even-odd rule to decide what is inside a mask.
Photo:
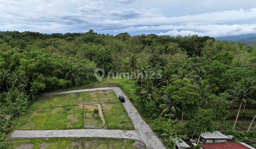
[[(159, 105), (160, 109), (162, 110), (162, 114), (165, 113), (173, 113), (176, 114), (176, 112), (180, 111), (180, 109), (176, 106), (174, 99), (172, 98), (172, 93), (174, 90), (166, 90), (164, 95), (160, 98), (164, 101), (164, 104)], [(171, 116), (169, 117), (169, 119)], [(167, 121), (168, 124), (168, 121)]]

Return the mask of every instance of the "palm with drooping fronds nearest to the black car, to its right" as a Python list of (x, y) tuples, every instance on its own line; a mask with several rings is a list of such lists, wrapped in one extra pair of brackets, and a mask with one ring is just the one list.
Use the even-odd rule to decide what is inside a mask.
[(157, 94), (156, 94), (156, 87), (154, 87), (153, 82), (149, 79), (145, 87), (141, 90), (141, 94), (143, 98), (148, 98), (150, 100), (154, 100), (158, 102)]

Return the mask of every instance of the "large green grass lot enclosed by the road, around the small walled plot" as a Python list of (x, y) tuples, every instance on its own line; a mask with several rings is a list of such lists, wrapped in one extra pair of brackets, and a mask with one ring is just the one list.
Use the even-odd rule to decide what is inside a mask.
[(27, 108), (20, 120), (17, 120), (15, 129), (82, 129), (84, 128), (83, 102), (102, 103), (108, 129), (132, 130), (134, 128), (116, 94), (111, 90), (99, 90), (41, 96)]

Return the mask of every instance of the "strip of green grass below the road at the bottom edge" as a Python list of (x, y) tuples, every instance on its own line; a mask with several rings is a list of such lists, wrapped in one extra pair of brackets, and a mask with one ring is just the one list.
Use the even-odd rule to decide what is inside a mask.
[[(127, 139), (126, 139), (127, 140)], [(113, 138), (49, 138), (47, 139), (12, 139), (8, 149), (23, 148), (46, 148), (46, 149), (135, 149), (129, 140)]]

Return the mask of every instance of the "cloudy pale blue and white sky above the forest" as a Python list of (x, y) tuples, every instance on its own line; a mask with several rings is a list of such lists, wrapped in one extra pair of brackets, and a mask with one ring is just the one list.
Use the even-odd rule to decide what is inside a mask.
[(255, 0), (0, 0), (0, 31), (224, 37), (256, 33)]

